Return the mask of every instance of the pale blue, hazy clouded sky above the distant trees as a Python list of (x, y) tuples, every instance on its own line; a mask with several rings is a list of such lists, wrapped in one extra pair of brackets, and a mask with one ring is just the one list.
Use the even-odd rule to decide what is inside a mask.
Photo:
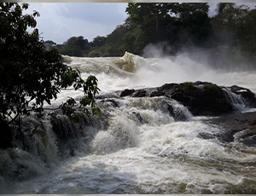
[(29, 3), (26, 14), (37, 10), (40, 37), (63, 43), (69, 37), (84, 36), (92, 41), (107, 36), (127, 18), (127, 3)]

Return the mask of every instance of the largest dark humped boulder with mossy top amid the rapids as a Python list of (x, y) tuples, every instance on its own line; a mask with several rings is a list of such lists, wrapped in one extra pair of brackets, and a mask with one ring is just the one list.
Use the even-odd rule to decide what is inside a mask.
[(224, 91), (211, 83), (165, 84), (160, 87), (167, 97), (183, 103), (194, 115), (218, 115), (230, 112), (232, 107)]

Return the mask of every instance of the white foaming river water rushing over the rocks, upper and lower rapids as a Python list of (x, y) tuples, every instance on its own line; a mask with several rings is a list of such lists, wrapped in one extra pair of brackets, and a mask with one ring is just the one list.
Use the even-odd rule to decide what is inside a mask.
[[(242, 144), (239, 136), (230, 143), (198, 136), (224, 131), (207, 123), (213, 117), (194, 117), (166, 97), (111, 96), (115, 90), (199, 80), (255, 93), (256, 72), (214, 70), (185, 55), (64, 59), (84, 78), (96, 75), (102, 114), (79, 126), (59, 116), (61, 129), (69, 129), (62, 142), (49, 117), (26, 118), (26, 151), (1, 150), (0, 193), (256, 193), (255, 147)], [(63, 90), (53, 106), (81, 95)], [(236, 109), (251, 109), (235, 100)], [(170, 116), (168, 104), (185, 120)]]

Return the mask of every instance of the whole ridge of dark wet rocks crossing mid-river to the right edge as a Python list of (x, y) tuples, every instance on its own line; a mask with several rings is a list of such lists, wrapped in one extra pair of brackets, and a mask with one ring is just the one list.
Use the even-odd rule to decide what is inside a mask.
[[(238, 86), (226, 89), (230, 89), (236, 95), (241, 95), (247, 107), (256, 107), (255, 95), (249, 89)], [(207, 82), (164, 84), (158, 88), (125, 89), (118, 92), (121, 97), (166, 96), (181, 102), (193, 115), (219, 115), (233, 111), (234, 107), (231, 106), (232, 103), (225, 93), (222, 87)]]

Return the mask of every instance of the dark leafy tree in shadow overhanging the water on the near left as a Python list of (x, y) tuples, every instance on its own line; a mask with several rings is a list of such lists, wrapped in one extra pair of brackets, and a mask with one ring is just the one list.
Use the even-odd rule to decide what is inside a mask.
[[(57, 49), (46, 49), (35, 28), (39, 14), (23, 15), (27, 8), (28, 4), (0, 3), (0, 147), (11, 145), (10, 130), (20, 130), (22, 116), (42, 112), (44, 103), (50, 104), (68, 86), (84, 89), (79, 101), (84, 112), (90, 112), (86, 106), (93, 113), (99, 112), (94, 101), (97, 79), (90, 76), (84, 81), (78, 70), (62, 63)], [(33, 32), (27, 32), (27, 27)], [(80, 113), (73, 109), (75, 105), (70, 98), (61, 109), (78, 120)]]

